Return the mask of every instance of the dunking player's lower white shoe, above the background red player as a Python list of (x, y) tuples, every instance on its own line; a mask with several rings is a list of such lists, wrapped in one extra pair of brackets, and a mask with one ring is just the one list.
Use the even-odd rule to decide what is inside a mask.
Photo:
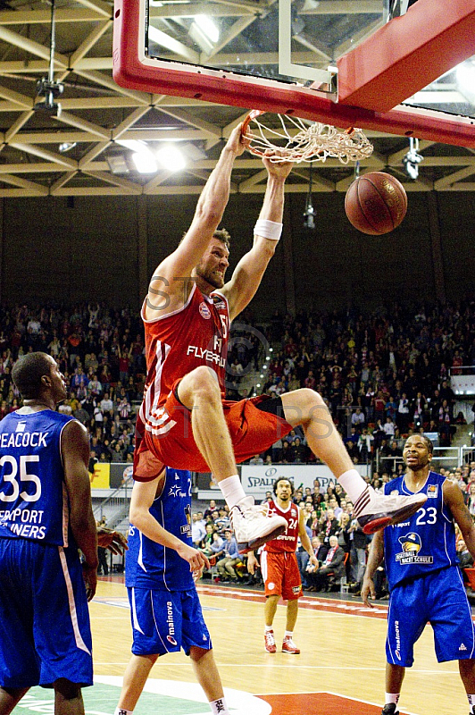
[(254, 504), (254, 497), (244, 497), (231, 509), (231, 526), (237, 541), (237, 551), (246, 553), (275, 539), (287, 529), (284, 517), (268, 517), (265, 507)]

